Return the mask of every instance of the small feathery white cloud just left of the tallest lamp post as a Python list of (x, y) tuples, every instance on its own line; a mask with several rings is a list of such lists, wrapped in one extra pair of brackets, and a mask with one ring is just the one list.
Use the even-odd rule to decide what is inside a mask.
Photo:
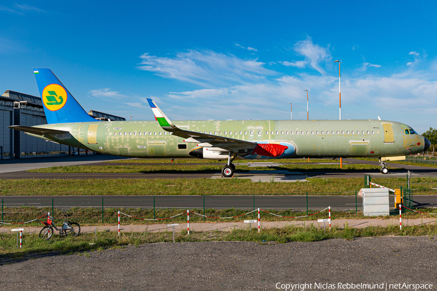
[(318, 44), (313, 44), (311, 37), (307, 37), (305, 40), (298, 41), (292, 48), (297, 54), (304, 57), (303, 61), (281, 62), (285, 66), (293, 66), (298, 68), (304, 68), (309, 65), (311, 68), (317, 70), (320, 74), (324, 75), (325, 70), (321, 67), (323, 63), (330, 63), (332, 61), (331, 52), (329, 46), (327, 48), (321, 47)]

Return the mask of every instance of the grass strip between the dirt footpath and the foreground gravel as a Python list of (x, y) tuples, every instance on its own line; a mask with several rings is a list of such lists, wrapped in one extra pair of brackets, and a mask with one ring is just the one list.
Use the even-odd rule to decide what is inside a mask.
[[(175, 233), (176, 242), (190, 241), (256, 241), (259, 244), (270, 242), (286, 243), (290, 241), (320, 241), (327, 239), (353, 240), (359, 237), (381, 237), (387, 235), (397, 236), (430, 236), (434, 239), (437, 235), (437, 225), (428, 224), (421, 226), (406, 226), (402, 230), (397, 225), (387, 227), (370, 226), (366, 228), (333, 227), (331, 231), (314, 225), (288, 226), (284, 228), (262, 229), (235, 229), (232, 232), (209, 231), (193, 232), (187, 235), (186, 230)], [(61, 238), (54, 234), (50, 240), (41, 240), (37, 234), (25, 234), (23, 248), (16, 249), (15, 234), (0, 234), (0, 265), (7, 264), (17, 259), (32, 258), (38, 254), (89, 256), (91, 251), (102, 251), (108, 248), (122, 248), (127, 245), (140, 245), (154, 242), (172, 242), (171, 232), (130, 232), (117, 233), (98, 232), (97, 239), (94, 233), (84, 233), (75, 238)], [(92, 243), (92, 244), (90, 244)]]

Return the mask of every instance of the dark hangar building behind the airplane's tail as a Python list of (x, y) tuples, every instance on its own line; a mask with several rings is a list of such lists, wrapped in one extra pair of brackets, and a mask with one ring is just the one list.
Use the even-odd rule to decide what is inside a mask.
[[(122, 117), (90, 110), (97, 120), (126, 120)], [(8, 128), (11, 125), (47, 124), (41, 98), (6, 90), (0, 96), (0, 159), (69, 155), (74, 148), (26, 135)]]

